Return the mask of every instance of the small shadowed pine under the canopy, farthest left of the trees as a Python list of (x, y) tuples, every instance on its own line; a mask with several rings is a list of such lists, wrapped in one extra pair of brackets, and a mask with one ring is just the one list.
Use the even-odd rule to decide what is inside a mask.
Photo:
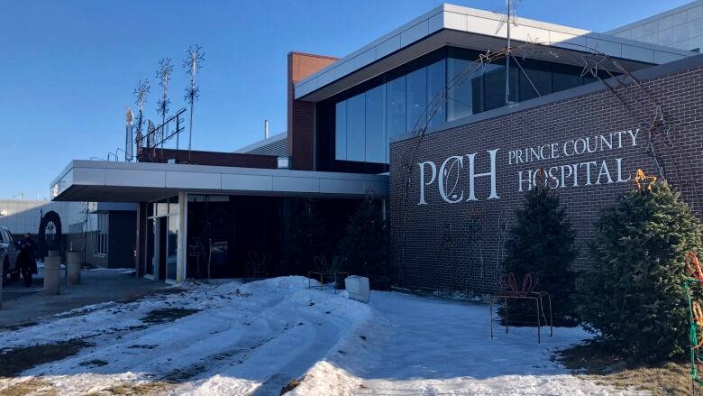
[(293, 216), (288, 234), (287, 274), (306, 274), (314, 270), (314, 259), (318, 255), (330, 253), (330, 237), (324, 219), (317, 214), (315, 202), (308, 198), (298, 207)]

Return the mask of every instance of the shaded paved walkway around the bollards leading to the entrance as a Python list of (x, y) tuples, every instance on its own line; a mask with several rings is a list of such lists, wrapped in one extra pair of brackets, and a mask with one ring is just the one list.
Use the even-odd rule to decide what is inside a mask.
[[(135, 278), (128, 270), (95, 269), (81, 273), (81, 283), (68, 286), (64, 279), (58, 296), (41, 293), (44, 280), (36, 275), (30, 288), (23, 281), (13, 281), (3, 288), (0, 327), (35, 321), (70, 309), (115, 300), (137, 299), (155, 290), (169, 287), (160, 281)], [(63, 272), (62, 272), (63, 275)]]

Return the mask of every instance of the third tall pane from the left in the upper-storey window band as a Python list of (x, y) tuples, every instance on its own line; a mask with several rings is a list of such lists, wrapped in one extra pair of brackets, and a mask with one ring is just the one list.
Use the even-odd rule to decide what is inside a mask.
[(366, 91), (366, 161), (386, 162), (386, 87)]

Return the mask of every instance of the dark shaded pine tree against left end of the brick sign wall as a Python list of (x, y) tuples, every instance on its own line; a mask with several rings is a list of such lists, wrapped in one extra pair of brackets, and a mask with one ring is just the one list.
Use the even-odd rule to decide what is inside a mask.
[(388, 289), (388, 242), (387, 222), (369, 193), (349, 217), (346, 235), (339, 245), (345, 268), (353, 275), (369, 277), (372, 289)]

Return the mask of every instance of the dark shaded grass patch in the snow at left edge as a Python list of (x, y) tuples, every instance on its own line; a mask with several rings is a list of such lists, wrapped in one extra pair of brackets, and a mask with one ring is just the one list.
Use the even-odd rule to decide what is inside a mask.
[(77, 339), (0, 350), (0, 377), (14, 377), (34, 366), (63, 360), (87, 346), (92, 344)]

